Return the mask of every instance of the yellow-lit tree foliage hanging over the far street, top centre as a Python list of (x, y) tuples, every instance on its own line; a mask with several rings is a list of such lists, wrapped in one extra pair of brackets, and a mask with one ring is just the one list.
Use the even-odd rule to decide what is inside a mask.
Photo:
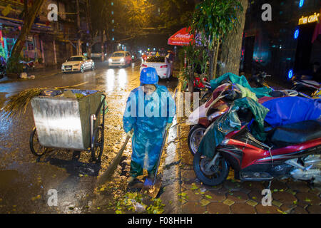
[(87, 1), (91, 2), (93, 31), (106, 28), (107, 35), (113, 34), (116, 41), (150, 34), (170, 36), (191, 21), (195, 8), (195, 4), (187, 0), (121, 0), (113, 1), (114, 6), (111, 6), (112, 0)]

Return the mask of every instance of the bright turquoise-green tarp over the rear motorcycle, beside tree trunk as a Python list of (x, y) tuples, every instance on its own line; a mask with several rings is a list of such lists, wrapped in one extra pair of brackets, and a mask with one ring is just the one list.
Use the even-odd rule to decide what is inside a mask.
[(258, 98), (262, 98), (265, 96), (270, 97), (270, 92), (272, 91), (271, 88), (267, 88), (267, 87), (252, 88), (250, 86), (250, 84), (248, 83), (248, 80), (246, 80), (245, 76), (237, 76), (233, 73), (225, 73), (223, 76), (220, 76), (219, 78), (215, 78), (215, 79), (211, 80), (210, 86), (212, 87), (212, 90), (215, 90), (215, 88), (220, 86), (222, 81), (224, 81), (225, 79), (228, 79), (228, 78), (230, 79), (230, 81), (232, 83), (236, 83), (236, 84), (239, 84), (240, 86), (248, 88), (251, 92), (255, 93), (255, 95)]

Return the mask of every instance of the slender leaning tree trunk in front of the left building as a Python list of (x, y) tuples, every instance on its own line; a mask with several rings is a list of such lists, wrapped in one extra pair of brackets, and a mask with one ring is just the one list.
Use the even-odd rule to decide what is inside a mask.
[(24, 25), (21, 28), (16, 43), (14, 43), (14, 46), (11, 49), (10, 57), (8, 60), (9, 69), (11, 68), (11, 64), (16, 64), (19, 60), (20, 53), (26, 43), (26, 36), (29, 35), (31, 26), (34, 24), (34, 19), (36, 19), (37, 14), (39, 14), (39, 10), (41, 9), (42, 4), (44, 4), (44, 0), (35, 0), (31, 6), (31, 9), (28, 11), (28, 14), (25, 14), (26, 16), (24, 17)]

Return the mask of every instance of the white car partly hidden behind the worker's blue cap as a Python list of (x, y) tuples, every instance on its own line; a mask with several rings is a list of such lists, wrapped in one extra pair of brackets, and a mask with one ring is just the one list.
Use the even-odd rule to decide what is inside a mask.
[(159, 78), (170, 78), (173, 75), (173, 64), (168, 62), (168, 59), (162, 56), (148, 57), (146, 62), (141, 64), (141, 70), (146, 67), (156, 68), (157, 74)]

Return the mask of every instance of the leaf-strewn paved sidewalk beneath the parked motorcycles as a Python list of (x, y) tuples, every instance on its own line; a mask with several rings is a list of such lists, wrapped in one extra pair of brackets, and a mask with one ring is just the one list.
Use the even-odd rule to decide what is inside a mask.
[[(179, 100), (179, 99), (178, 99)], [(178, 104), (179, 105), (179, 104)], [(170, 155), (168, 175), (170, 190), (165, 192), (168, 202), (177, 203), (170, 213), (186, 214), (308, 214), (321, 213), (321, 188), (309, 187), (305, 182), (294, 182), (290, 179), (273, 180), (272, 206), (264, 207), (262, 191), (268, 182), (240, 182), (234, 180), (231, 170), (222, 185), (210, 187), (203, 185), (193, 170), (193, 155), (188, 149), (188, 132), (190, 125), (185, 118), (178, 118), (177, 137), (171, 142), (175, 153)], [(173, 177), (175, 174), (175, 177)], [(164, 172), (165, 179), (166, 174)], [(168, 177), (167, 177), (168, 178)], [(164, 177), (163, 177), (164, 179)], [(176, 185), (172, 182), (175, 181)], [(162, 195), (162, 197), (163, 197)], [(163, 197), (165, 200), (165, 196)], [(167, 202), (165, 202), (167, 205)], [(170, 209), (170, 207), (168, 207)], [(169, 212), (169, 211), (168, 211)]]

